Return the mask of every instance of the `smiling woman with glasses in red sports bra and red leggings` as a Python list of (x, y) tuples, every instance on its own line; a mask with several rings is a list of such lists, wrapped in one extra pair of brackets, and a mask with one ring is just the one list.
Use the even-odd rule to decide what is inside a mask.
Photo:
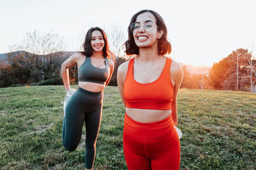
[(177, 94), (182, 67), (165, 57), (172, 47), (163, 18), (152, 10), (136, 13), (128, 28), (127, 55), (117, 83), (125, 106), (124, 155), (129, 170), (179, 169)]

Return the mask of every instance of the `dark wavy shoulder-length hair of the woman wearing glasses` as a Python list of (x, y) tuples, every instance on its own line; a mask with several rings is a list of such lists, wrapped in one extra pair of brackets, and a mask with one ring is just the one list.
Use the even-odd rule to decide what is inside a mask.
[(158, 44), (157, 44), (157, 48), (158, 48), (158, 53), (159, 55), (165, 55), (166, 53), (171, 53), (172, 52), (172, 45), (171, 43), (167, 40), (167, 27), (164, 23), (163, 18), (156, 12), (153, 10), (141, 10), (138, 13), (136, 13), (135, 15), (133, 15), (131, 22), (129, 24), (128, 27), (128, 40), (125, 41), (125, 53), (127, 55), (134, 55), (134, 54), (139, 54), (139, 47), (136, 45), (134, 38), (133, 38), (133, 34), (132, 31), (130, 29), (130, 25), (134, 22), (136, 22), (136, 18), (138, 17), (138, 15), (140, 15), (141, 13), (145, 13), (145, 12), (150, 12), (154, 15), (154, 17), (156, 18), (156, 25), (157, 25), (157, 31), (164, 31), (163, 36), (158, 39)]

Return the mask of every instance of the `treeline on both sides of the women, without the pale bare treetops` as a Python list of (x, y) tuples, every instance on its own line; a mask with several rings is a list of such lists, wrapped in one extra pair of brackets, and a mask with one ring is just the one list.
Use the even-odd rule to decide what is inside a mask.
[[(56, 52), (47, 55), (19, 51), (8, 53), (8, 65), (0, 69), (0, 87), (19, 85), (62, 85), (61, 64), (75, 52)], [(116, 72), (124, 57), (116, 57), (115, 71), (109, 85), (116, 86)], [(212, 65), (207, 71), (191, 74), (182, 66), (184, 79), (181, 88), (242, 90), (256, 92), (256, 60), (252, 52), (239, 48)], [(77, 84), (77, 67), (69, 69), (70, 83)]]

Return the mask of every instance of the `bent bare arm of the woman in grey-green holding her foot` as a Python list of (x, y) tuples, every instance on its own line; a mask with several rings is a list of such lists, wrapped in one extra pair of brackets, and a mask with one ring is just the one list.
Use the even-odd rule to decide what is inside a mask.
[(66, 91), (70, 89), (68, 68), (76, 66), (79, 57), (80, 55), (75, 53), (61, 64), (61, 76)]

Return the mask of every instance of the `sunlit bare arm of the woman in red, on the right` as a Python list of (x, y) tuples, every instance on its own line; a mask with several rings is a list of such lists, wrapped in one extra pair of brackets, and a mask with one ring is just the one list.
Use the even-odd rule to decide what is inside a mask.
[(170, 69), (171, 79), (175, 81), (173, 86), (173, 101), (172, 101), (172, 119), (174, 125), (178, 125), (178, 115), (177, 115), (177, 96), (180, 89), (180, 85), (183, 80), (183, 70), (179, 63), (173, 61)]

